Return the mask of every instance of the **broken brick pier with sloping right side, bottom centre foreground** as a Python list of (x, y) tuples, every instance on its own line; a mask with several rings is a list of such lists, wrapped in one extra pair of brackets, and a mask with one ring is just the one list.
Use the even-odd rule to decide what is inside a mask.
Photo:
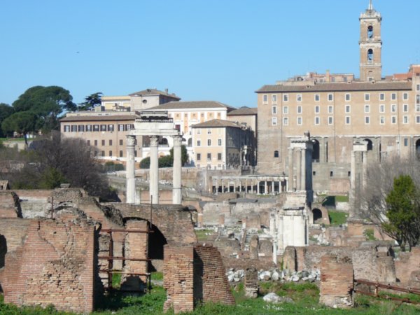
[(235, 304), (225, 267), (216, 247), (165, 246), (164, 310), (193, 311), (199, 302)]

